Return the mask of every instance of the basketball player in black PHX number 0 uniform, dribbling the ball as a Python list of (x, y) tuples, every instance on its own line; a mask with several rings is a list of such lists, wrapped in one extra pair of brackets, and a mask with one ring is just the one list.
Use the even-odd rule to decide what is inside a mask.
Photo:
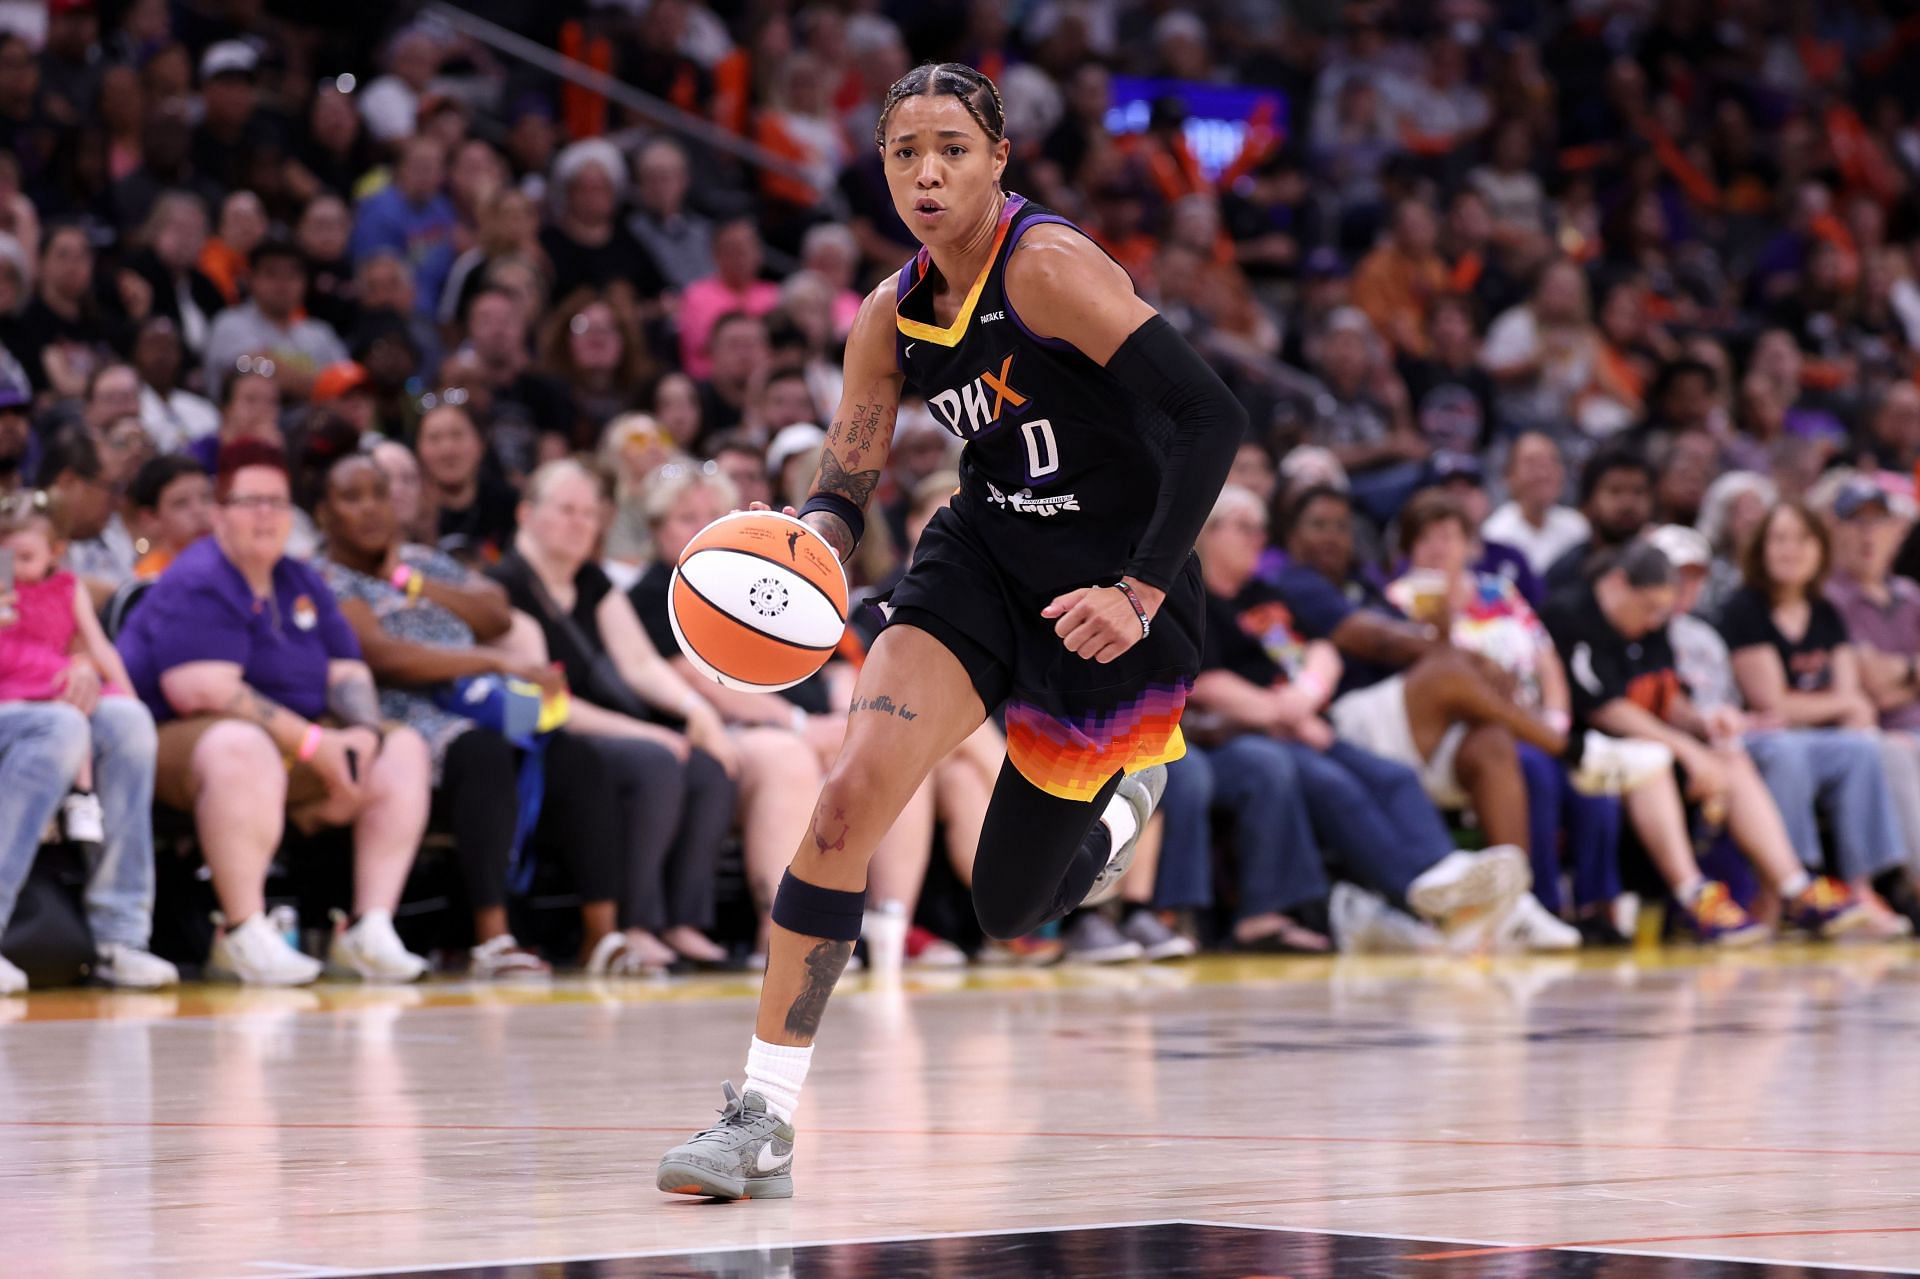
[[(1006, 705), (1006, 764), (973, 864), (991, 937), (1018, 937), (1117, 887), (1185, 753), (1200, 661), (1192, 545), (1246, 413), (1056, 213), (1000, 188), (993, 81), (922, 65), (874, 131), (920, 253), (860, 305), (847, 388), (801, 507), (852, 555), (902, 386), (966, 442), (960, 494), (922, 534), (854, 691), (812, 830), (774, 899), (745, 1093), (660, 1160), (659, 1187), (793, 1195), (793, 1106), (820, 1014), (860, 935), (866, 864), (927, 772)], [(1461, 906), (1509, 893), (1476, 874)]]

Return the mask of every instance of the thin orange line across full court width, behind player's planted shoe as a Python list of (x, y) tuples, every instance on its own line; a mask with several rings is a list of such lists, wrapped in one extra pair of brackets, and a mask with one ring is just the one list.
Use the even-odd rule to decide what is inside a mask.
[[(647, 1123), (355, 1123), (326, 1122), (252, 1122), (252, 1120), (0, 1120), (6, 1127), (179, 1127), (179, 1129), (288, 1129), (288, 1131), (420, 1131), (420, 1133), (678, 1133), (682, 1127)], [(1912, 1160), (1920, 1150), (1834, 1150), (1820, 1146), (1705, 1146), (1653, 1145), (1615, 1141), (1524, 1141), (1496, 1137), (1332, 1137), (1332, 1135), (1273, 1135), (1258, 1133), (1089, 1133), (1056, 1129), (948, 1129), (948, 1127), (810, 1127), (810, 1137), (985, 1137), (991, 1141), (1225, 1141), (1236, 1145), (1294, 1145), (1294, 1146), (1461, 1146), (1501, 1150), (1642, 1150), (1655, 1154), (1799, 1154), (1862, 1160)], [(1920, 1227), (1914, 1227), (1920, 1231)], [(1572, 1244), (1532, 1244), (1559, 1248)]]

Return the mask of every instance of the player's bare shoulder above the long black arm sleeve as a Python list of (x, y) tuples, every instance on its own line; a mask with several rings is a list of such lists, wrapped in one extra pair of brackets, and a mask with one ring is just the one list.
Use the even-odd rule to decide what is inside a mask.
[(1006, 259), (1006, 300), (1043, 338), (1062, 338), (1104, 365), (1154, 307), (1133, 277), (1073, 227), (1043, 223)]

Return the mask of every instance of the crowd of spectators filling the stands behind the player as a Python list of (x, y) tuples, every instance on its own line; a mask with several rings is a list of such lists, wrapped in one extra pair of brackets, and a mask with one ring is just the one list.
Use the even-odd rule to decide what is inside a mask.
[[(1722, 945), (1920, 922), (1905, 6), (463, 8), (780, 163), (411, 4), (0, 0), (0, 924), (58, 837), (96, 974), (175, 979), (184, 826), (221, 928), (171, 958), (309, 981), (267, 889), (342, 830), (307, 941), (340, 972), (426, 972), (396, 916), (436, 835), (474, 976), (762, 954), (877, 618), (733, 693), (666, 578), (714, 515), (804, 495), (858, 300), (916, 248), (870, 138), (922, 60), (998, 81), (1006, 186), (1254, 422), (1165, 820), (1119, 906), (987, 951), (1619, 945), (1632, 901)], [(1160, 84), (1125, 127), (1116, 77)], [(1281, 109), (1223, 150), (1181, 83)], [(908, 399), (862, 597), (958, 459)], [(916, 901), (935, 858), (968, 881), (1000, 751), (989, 722), (876, 858), (876, 966), (973, 949)], [(1476, 845), (1532, 893), (1440, 929), (1423, 874)], [(515, 937), (540, 876), (576, 953)]]

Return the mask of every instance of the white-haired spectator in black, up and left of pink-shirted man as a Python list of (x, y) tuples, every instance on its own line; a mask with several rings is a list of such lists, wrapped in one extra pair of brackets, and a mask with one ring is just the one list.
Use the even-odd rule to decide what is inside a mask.
[(540, 244), (553, 265), (555, 298), (612, 280), (626, 280), (641, 302), (660, 296), (666, 282), (653, 255), (620, 223), (624, 200), (626, 157), (605, 138), (574, 142), (553, 159), (553, 223)]

